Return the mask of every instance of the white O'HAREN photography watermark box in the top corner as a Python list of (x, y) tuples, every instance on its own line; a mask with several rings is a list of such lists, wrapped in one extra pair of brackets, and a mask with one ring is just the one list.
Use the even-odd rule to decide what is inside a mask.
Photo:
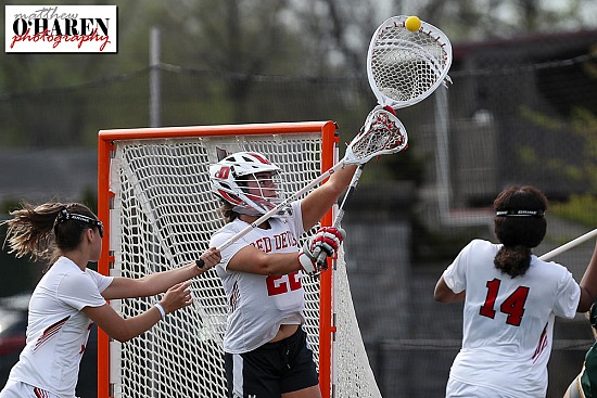
[(117, 51), (116, 5), (4, 5), (5, 52)]

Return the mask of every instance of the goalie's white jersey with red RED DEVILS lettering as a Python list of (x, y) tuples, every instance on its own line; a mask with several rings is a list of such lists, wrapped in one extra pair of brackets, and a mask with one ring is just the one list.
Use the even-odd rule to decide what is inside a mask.
[[(280, 324), (302, 324), (305, 305), (300, 271), (285, 275), (259, 275), (227, 269), (230, 259), (243, 247), (253, 245), (265, 253), (296, 253), (303, 234), (300, 202), (292, 205), (292, 216), (270, 218), (269, 229), (254, 228), (221, 252), (216, 266), (228, 300), (224, 350), (230, 354), (251, 351), (276, 336)], [(236, 219), (212, 236), (209, 247), (218, 247), (246, 228)]]

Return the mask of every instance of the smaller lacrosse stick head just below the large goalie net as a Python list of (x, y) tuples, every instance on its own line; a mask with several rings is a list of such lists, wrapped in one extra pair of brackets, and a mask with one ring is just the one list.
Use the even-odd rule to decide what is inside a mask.
[(408, 147), (408, 134), (392, 110), (376, 106), (367, 115), (360, 132), (346, 149), (344, 163), (363, 165), (371, 158)]

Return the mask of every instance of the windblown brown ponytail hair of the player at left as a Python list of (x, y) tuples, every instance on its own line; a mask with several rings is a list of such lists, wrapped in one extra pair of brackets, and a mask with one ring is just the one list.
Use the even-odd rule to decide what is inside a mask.
[[(11, 211), (5, 242), (10, 253), (16, 257), (29, 255), (33, 260), (47, 260), (53, 264), (63, 252), (76, 248), (82, 240), (82, 232), (89, 223), (76, 219), (58, 222), (61, 211), (78, 214), (97, 220), (97, 216), (87, 206), (79, 203), (45, 203), (34, 206), (22, 204), (20, 209)], [(5, 243), (4, 242), (4, 243)]]

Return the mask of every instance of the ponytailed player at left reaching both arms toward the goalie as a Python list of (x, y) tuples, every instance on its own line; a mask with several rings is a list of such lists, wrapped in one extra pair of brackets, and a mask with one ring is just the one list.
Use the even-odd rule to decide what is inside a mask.
[[(189, 282), (221, 259), (211, 248), (203, 268), (190, 264), (140, 279), (105, 277), (89, 268), (102, 251), (103, 224), (81, 204), (25, 204), (11, 213), (7, 241), (17, 257), (48, 260), (49, 269), (29, 301), (27, 344), (0, 398), (75, 398), (79, 362), (89, 331), (97, 323), (127, 342), (150, 330), (168, 312), (192, 304)], [(164, 293), (153, 307), (123, 319), (107, 299)]]

